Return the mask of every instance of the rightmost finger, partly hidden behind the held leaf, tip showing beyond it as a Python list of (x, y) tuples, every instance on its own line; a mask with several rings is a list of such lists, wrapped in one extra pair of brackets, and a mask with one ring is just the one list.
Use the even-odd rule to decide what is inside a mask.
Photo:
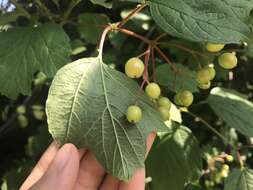
[[(147, 153), (150, 151), (152, 144), (155, 140), (156, 133), (151, 133), (147, 138)], [(144, 190), (145, 189), (145, 169), (139, 169), (135, 172), (132, 179), (129, 182), (121, 182), (119, 190)]]

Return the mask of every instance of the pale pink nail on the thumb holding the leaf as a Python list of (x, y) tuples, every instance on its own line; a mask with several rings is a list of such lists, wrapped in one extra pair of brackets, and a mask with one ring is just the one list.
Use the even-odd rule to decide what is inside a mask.
[(62, 170), (68, 164), (68, 161), (70, 160), (71, 155), (73, 153), (73, 149), (74, 145), (72, 144), (63, 145), (54, 160), (53, 164), (55, 165), (55, 167), (57, 167), (59, 170)]

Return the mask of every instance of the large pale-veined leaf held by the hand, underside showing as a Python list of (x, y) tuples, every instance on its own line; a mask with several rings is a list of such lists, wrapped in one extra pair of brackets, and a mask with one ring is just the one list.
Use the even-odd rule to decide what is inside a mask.
[[(133, 125), (125, 113), (136, 102), (143, 116)], [(147, 135), (168, 130), (137, 83), (99, 58), (84, 58), (58, 71), (46, 112), (49, 131), (58, 142), (88, 148), (108, 173), (121, 180), (144, 167)]]

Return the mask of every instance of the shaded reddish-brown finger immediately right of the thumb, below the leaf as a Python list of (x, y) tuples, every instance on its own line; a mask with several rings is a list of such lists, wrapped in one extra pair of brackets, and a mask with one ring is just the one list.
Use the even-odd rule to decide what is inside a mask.
[(80, 163), (75, 190), (97, 190), (105, 175), (104, 168), (91, 152), (87, 152)]

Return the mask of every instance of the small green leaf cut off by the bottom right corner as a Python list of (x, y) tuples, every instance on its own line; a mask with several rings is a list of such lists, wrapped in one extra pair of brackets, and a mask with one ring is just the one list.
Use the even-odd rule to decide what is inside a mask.
[(253, 170), (243, 168), (230, 172), (225, 181), (224, 190), (252, 190), (253, 189)]

